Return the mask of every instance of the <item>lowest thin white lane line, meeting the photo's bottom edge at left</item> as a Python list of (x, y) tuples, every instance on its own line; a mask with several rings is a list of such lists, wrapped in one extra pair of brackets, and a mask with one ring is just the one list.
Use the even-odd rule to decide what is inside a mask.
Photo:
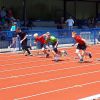
[(45, 95), (45, 94), (60, 92), (60, 91), (69, 90), (69, 89), (73, 89), (73, 88), (81, 88), (81, 87), (84, 87), (84, 86), (87, 86), (87, 85), (97, 84), (97, 83), (100, 83), (100, 80), (89, 82), (89, 83), (84, 83), (84, 84), (76, 84), (76, 85), (73, 85), (71, 87), (60, 88), (60, 89), (57, 89), (57, 90), (47, 91), (47, 92), (43, 92), (43, 93), (39, 93), (39, 94), (33, 94), (33, 95), (30, 95), (30, 96), (25, 96), (25, 97), (21, 97), (21, 98), (15, 98), (14, 100), (29, 99), (31, 97), (36, 97), (36, 96), (40, 96), (40, 95)]

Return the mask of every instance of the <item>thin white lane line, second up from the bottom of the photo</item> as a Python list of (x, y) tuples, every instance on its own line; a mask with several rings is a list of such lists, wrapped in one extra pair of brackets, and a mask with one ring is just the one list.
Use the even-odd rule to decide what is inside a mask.
[(98, 70), (97, 71), (90, 71), (90, 72), (81, 73), (81, 74), (74, 74), (74, 75), (64, 76), (64, 77), (51, 78), (51, 79), (47, 79), (47, 80), (40, 80), (40, 81), (36, 81), (36, 82), (19, 84), (19, 85), (14, 85), (14, 86), (9, 86), (9, 87), (4, 87), (4, 88), (0, 88), (0, 91), (11, 89), (11, 88), (17, 88), (17, 87), (27, 86), (27, 85), (38, 84), (38, 83), (44, 83), (44, 82), (50, 82), (50, 81), (55, 81), (55, 80), (61, 80), (61, 79), (66, 79), (66, 78), (71, 78), (71, 77), (79, 77), (79, 76), (82, 76), (82, 75), (88, 75), (88, 74), (94, 74), (94, 73), (100, 73), (100, 70), (99, 71)]

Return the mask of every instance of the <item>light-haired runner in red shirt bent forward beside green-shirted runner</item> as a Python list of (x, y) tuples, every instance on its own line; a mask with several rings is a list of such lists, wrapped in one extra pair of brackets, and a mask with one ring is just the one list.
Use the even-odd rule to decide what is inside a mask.
[(46, 50), (45, 34), (38, 36), (38, 33), (35, 33), (34, 38), (35, 38), (34, 44), (38, 44), (38, 49), (42, 49), (42, 51), (46, 55), (46, 58), (49, 57), (49, 53)]

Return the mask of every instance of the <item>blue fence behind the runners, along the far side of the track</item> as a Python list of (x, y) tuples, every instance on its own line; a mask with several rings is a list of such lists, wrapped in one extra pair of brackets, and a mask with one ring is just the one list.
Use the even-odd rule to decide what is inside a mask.
[[(39, 35), (42, 35), (46, 32), (50, 32), (52, 35), (58, 38), (59, 44), (72, 44), (74, 43), (73, 38), (71, 37), (71, 32), (75, 31), (79, 35), (81, 35), (83, 38), (87, 40), (89, 44), (96, 44), (96, 39), (100, 38), (100, 29), (94, 28), (94, 29), (75, 29), (75, 30), (24, 30), (27, 33), (28, 38), (28, 45), (34, 46), (34, 38), (33, 34), (38, 33)], [(0, 32), (0, 52), (6, 52), (9, 51), (7, 48), (12, 42), (12, 36), (13, 32), (11, 31), (1, 31)], [(98, 39), (99, 40), (99, 39)], [(16, 42), (16, 48), (17, 50), (20, 50), (20, 42), (19, 39), (17, 39)]]

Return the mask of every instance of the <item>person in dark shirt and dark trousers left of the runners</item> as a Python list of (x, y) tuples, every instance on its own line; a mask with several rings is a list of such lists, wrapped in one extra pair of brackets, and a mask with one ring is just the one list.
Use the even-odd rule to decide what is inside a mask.
[(22, 32), (20, 28), (16, 29), (16, 33), (20, 37), (20, 43), (21, 43), (23, 51), (27, 51), (27, 54), (25, 54), (25, 56), (27, 56), (27, 55), (32, 56), (31, 52), (28, 49), (28, 48), (30, 48), (30, 46), (27, 46), (27, 36), (26, 36), (26, 33)]

